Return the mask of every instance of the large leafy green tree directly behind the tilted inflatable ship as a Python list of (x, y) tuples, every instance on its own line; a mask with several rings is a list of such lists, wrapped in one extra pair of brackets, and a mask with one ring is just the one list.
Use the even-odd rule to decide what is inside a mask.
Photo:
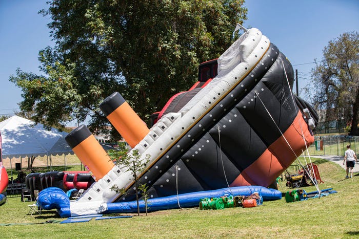
[(23, 91), (20, 108), (33, 120), (64, 125), (91, 115), (88, 127), (108, 121), (98, 105), (115, 91), (149, 122), (178, 91), (197, 79), (200, 62), (216, 58), (243, 23), (244, 0), (54, 0), (41, 11), (54, 48), (39, 52), (46, 76), (21, 70), (10, 77)]

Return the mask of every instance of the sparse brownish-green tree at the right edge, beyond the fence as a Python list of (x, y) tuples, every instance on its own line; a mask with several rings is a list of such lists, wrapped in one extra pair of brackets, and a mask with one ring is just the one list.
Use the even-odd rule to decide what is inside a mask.
[(329, 41), (323, 59), (315, 64), (311, 71), (315, 87), (307, 86), (313, 104), (326, 110), (326, 119), (347, 120), (349, 134), (359, 135), (359, 33), (347, 32)]

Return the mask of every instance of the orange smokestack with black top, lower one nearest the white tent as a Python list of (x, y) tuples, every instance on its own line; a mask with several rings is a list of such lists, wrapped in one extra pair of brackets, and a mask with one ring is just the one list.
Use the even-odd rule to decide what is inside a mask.
[(65, 140), (79, 160), (91, 171), (96, 181), (102, 179), (113, 168), (114, 164), (105, 149), (85, 125), (73, 129)]

